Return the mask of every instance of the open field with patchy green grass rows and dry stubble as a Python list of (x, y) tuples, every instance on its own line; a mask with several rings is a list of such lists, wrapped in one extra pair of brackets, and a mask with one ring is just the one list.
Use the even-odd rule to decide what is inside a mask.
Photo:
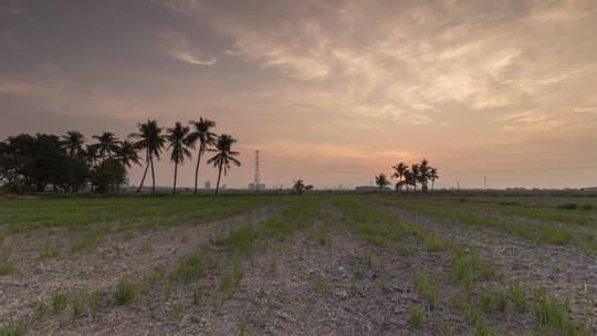
[(597, 198), (0, 200), (0, 335), (595, 335)]

